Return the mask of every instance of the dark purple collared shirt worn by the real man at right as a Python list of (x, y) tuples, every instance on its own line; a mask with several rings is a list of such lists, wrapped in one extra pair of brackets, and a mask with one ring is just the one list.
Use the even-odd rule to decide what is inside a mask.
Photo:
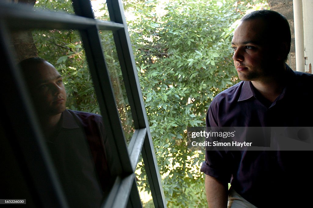
[[(218, 94), (207, 113), (207, 126), (313, 126), (313, 75), (287, 66), (285, 89), (269, 103), (249, 81)], [(206, 151), (201, 171), (261, 207), (307, 205), (311, 187), (312, 151)], [(310, 197), (309, 197), (310, 196)]]

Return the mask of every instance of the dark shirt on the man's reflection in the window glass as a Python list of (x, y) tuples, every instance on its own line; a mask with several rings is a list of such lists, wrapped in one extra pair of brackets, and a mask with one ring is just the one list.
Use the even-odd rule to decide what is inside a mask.
[(65, 110), (60, 122), (47, 144), (69, 206), (100, 207), (111, 180), (102, 117)]

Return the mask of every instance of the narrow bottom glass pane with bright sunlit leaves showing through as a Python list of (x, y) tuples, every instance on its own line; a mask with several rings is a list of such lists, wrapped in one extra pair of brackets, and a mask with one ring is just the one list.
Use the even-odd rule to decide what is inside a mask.
[(153, 199), (151, 195), (150, 185), (148, 182), (148, 178), (146, 175), (146, 168), (142, 160), (142, 156), (140, 155), (139, 163), (137, 164), (136, 170), (136, 181), (137, 188), (139, 191), (140, 199), (143, 208), (155, 208), (153, 204)]

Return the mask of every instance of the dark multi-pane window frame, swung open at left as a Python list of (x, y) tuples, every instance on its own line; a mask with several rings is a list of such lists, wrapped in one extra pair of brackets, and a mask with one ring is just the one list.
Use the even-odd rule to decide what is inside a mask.
[[(107, 139), (112, 144), (106, 149), (111, 151), (112, 157), (116, 158), (115, 163), (109, 166), (111, 175), (115, 176), (116, 179), (101, 207), (142, 207), (134, 173), (141, 154), (154, 205), (165, 208), (167, 206), (161, 176), (156, 163), (122, 2), (121, 0), (107, 0), (111, 21), (95, 19), (89, 0), (73, 0), (72, 3), (75, 14), (33, 11), (32, 8), (20, 4), (0, 3), (0, 46), (1, 55), (4, 57), (3, 69), (6, 69), (3, 77), (5, 81), (1, 83), (1, 87), (4, 89), (1, 92), (1, 99), (3, 109), (6, 112), (6, 120), (8, 120), (7, 125), (13, 129), (14, 138), (11, 145), (17, 144), (14, 150), (15, 153), (18, 152), (18, 161), (27, 167), (27, 180), (33, 182), (32, 188), (36, 193), (32, 195), (34, 198), (36, 198), (34, 195), (38, 196), (41, 207), (68, 207), (47, 148), (44, 145), (43, 136), (37, 126), (38, 122), (33, 116), (35, 111), (29, 102), (30, 97), (25, 90), (26, 85), (14, 63), (14, 51), (8, 44), (10, 43), (8, 31), (12, 29), (75, 29), (80, 31), (95, 92), (99, 100)], [(129, 145), (126, 143), (116, 108), (99, 30), (113, 32), (114, 44), (135, 127)], [(3, 118), (1, 122), (4, 122)], [(112, 149), (116, 151), (112, 151)], [(37, 163), (31, 162), (34, 159)], [(38, 181), (39, 176), (42, 179), (40, 181)], [(47, 187), (51, 188), (48, 190)]]

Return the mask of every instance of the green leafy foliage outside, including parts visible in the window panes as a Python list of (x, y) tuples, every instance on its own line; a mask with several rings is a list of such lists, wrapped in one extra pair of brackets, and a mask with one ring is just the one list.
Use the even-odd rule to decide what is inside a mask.
[[(124, 0), (138, 76), (145, 100), (151, 135), (171, 207), (206, 207), (203, 152), (189, 151), (186, 129), (204, 126), (213, 97), (238, 82), (230, 42), (234, 27), (248, 9), (260, 9), (262, 0)], [(262, 3), (262, 4), (261, 4)], [(259, 5), (259, 6), (255, 6)], [(68, 10), (69, 1), (40, 0), (36, 7)], [(66, 9), (64, 9), (66, 8)], [(99, 10), (105, 9), (105, 4)], [(108, 19), (107, 13), (100, 19)], [(85, 52), (78, 31), (33, 31), (42, 58), (64, 76), (68, 107), (99, 112)], [(111, 83), (126, 136), (127, 104), (112, 33), (101, 32)], [(126, 103), (126, 104), (125, 104)], [(142, 162), (137, 170), (140, 190), (149, 190)]]

